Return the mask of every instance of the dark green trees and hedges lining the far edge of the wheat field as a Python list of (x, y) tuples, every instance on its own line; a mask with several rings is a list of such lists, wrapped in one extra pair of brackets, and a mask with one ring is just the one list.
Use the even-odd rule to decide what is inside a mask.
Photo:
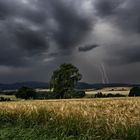
[[(77, 90), (76, 86), (78, 81), (82, 79), (82, 75), (79, 73), (79, 69), (72, 64), (62, 64), (56, 69), (50, 80), (50, 91), (36, 92), (31, 87), (23, 86), (17, 90), (17, 92), (5, 93), (15, 94), (16, 98), (21, 99), (69, 99), (69, 98), (82, 98), (85, 96), (84, 90)], [(140, 88), (133, 87), (130, 90), (130, 97), (140, 96)], [(107, 97), (125, 97), (122, 94), (103, 94), (99, 92), (95, 94), (95, 98), (107, 98)], [(0, 98), (0, 101), (10, 101), (4, 97)]]

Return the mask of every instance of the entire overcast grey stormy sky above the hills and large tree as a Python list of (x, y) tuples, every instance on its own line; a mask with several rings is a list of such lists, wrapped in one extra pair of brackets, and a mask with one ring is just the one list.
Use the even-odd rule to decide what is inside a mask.
[(61, 63), (140, 83), (140, 0), (0, 0), (0, 82), (47, 82)]

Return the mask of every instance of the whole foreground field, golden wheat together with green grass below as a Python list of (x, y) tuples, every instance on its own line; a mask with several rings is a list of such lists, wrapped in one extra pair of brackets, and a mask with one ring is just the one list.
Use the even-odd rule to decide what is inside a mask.
[(0, 103), (0, 140), (139, 140), (140, 98)]

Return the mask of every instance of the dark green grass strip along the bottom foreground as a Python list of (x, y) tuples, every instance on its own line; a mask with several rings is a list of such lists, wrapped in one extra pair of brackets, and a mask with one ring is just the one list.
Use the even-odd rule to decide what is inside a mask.
[(132, 126), (125, 128), (118, 126), (116, 132), (107, 131), (105, 123), (98, 127), (98, 129), (87, 126), (83, 132), (78, 126), (78, 122), (74, 121), (71, 124), (48, 124), (22, 126), (16, 125), (3, 125), (0, 127), (1, 140), (139, 140), (140, 127)]

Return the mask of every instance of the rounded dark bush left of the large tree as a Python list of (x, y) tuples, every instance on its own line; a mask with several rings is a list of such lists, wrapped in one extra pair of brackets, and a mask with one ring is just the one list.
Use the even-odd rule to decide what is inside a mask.
[(21, 99), (35, 99), (37, 96), (36, 91), (30, 87), (21, 87), (16, 92), (16, 97)]

